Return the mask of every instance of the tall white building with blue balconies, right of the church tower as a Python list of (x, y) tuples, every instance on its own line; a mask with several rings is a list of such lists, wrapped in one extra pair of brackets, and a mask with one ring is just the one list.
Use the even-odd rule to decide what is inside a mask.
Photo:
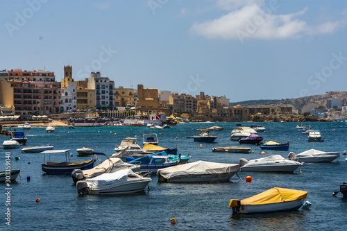
[(88, 89), (95, 89), (95, 108), (99, 110), (114, 110), (113, 99), (115, 82), (108, 77), (101, 77), (100, 72), (90, 73)]

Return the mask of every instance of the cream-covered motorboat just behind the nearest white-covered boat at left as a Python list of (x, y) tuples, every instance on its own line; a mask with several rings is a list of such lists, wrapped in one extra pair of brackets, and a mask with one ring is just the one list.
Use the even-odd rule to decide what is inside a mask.
[[(105, 155), (105, 153), (94, 153), (95, 155)], [(106, 155), (105, 155), (106, 156)], [(107, 156), (106, 156), (107, 157)], [(94, 178), (103, 173), (114, 173), (122, 169), (131, 169), (132, 171), (139, 171), (141, 166), (138, 164), (124, 163), (121, 159), (117, 157), (107, 157), (107, 159), (98, 166), (94, 166), (92, 169), (74, 169), (71, 173), (72, 180), (74, 184), (78, 180), (85, 180), (87, 178)]]

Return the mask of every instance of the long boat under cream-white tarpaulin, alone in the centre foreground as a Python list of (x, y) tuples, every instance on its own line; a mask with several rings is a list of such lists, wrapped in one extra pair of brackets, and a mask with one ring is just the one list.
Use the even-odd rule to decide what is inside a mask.
[(223, 182), (239, 171), (239, 164), (199, 160), (189, 164), (159, 169), (158, 182)]

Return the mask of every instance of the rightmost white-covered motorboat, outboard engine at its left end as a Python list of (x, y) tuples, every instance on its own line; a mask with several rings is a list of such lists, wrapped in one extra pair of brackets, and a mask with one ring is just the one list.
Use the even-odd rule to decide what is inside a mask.
[(316, 149), (310, 149), (295, 155), (290, 152), (288, 154), (289, 160), (295, 160), (298, 162), (332, 162), (340, 157), (339, 152), (323, 152)]

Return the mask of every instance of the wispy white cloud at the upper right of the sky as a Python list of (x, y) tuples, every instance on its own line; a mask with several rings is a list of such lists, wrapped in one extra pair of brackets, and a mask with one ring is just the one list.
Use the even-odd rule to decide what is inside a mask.
[(300, 37), (303, 34), (333, 33), (345, 24), (339, 21), (309, 26), (300, 19), (307, 8), (292, 14), (275, 15), (273, 12), (280, 5), (264, 6), (262, 0), (246, 3), (241, 0), (217, 1), (217, 6), (231, 11), (217, 19), (194, 23), (190, 29), (193, 34), (209, 39), (240, 40), (243, 43), (251, 38), (274, 40)]

